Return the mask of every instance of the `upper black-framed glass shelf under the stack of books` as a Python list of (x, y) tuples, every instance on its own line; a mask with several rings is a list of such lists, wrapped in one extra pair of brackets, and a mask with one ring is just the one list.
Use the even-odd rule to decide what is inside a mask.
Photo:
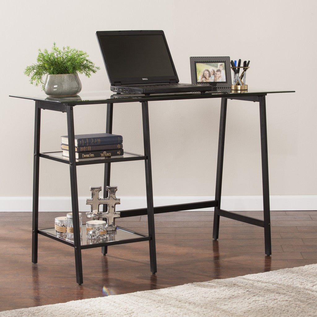
[[(51, 159), (54, 161), (69, 164), (69, 158), (63, 156), (63, 152), (45, 152), (40, 153), (40, 157)], [(109, 158), (92, 158), (92, 159), (76, 159), (76, 165), (87, 165), (87, 164), (100, 164), (100, 163), (111, 163), (111, 162), (123, 162), (123, 161), (137, 161), (145, 160), (147, 156), (141, 154), (134, 154), (124, 152), (123, 155), (113, 156)]]

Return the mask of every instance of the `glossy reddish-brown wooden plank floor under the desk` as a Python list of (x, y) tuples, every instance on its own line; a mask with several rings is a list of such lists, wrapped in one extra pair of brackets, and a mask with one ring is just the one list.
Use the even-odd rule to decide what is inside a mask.
[[(239, 212), (261, 218), (261, 212)], [(40, 228), (64, 213), (40, 213)], [(165, 288), (317, 263), (317, 211), (272, 211), (272, 256), (260, 227), (220, 218), (212, 240), (213, 212), (155, 215), (158, 272), (149, 266), (148, 242), (82, 250), (84, 281), (76, 283), (74, 249), (39, 236), (31, 262), (31, 213), (0, 213), (0, 311), (91, 297)], [(145, 216), (118, 225), (147, 233)]]

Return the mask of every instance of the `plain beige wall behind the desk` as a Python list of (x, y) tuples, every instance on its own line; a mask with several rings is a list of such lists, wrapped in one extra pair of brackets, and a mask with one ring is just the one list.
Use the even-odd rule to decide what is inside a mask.
[[(251, 61), (251, 89), (296, 90), (267, 97), (270, 194), (316, 195), (316, 9), (307, 0), (3, 4), (0, 196), (32, 195), (34, 102), (8, 95), (44, 94), (23, 74), (37, 49), (55, 41), (87, 51), (101, 70), (80, 76), (83, 91), (107, 90), (95, 32), (117, 29), (163, 29), (181, 82), (191, 80), (190, 56), (230, 56)], [(214, 195), (220, 100), (151, 102), (149, 109), (154, 195)], [(76, 106), (74, 115), (75, 133), (104, 131), (104, 106)], [(113, 133), (124, 136), (125, 150), (143, 152), (139, 103), (115, 105)], [(41, 151), (58, 150), (63, 134), (66, 115), (43, 111)], [(41, 159), (40, 172), (40, 196), (70, 195), (68, 165)], [(103, 183), (102, 165), (80, 166), (77, 173), (80, 196)], [(144, 162), (113, 164), (111, 184), (120, 196), (144, 196)], [(229, 100), (223, 195), (261, 192), (258, 104)]]

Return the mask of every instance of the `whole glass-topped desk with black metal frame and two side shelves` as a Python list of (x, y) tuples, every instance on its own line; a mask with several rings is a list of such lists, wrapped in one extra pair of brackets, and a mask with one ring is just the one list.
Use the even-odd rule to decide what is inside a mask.
[[(286, 92), (286, 91), (285, 91)], [(290, 92), (290, 91), (287, 91)], [(219, 222), (220, 216), (238, 220), (244, 223), (253, 224), (264, 228), (264, 241), (265, 241), (265, 254), (271, 255), (271, 230), (270, 230), (270, 205), (269, 205), (269, 186), (268, 186), (268, 146), (267, 146), (267, 127), (266, 127), (266, 93), (243, 93), (243, 94), (174, 94), (162, 96), (142, 96), (127, 99), (105, 99), (105, 100), (92, 100), (80, 102), (80, 104), (107, 104), (107, 119), (106, 119), (106, 132), (112, 133), (113, 126), (113, 104), (121, 102), (140, 102), (142, 104), (142, 121), (143, 121), (143, 142), (144, 142), (144, 155), (132, 154), (132, 156), (121, 158), (110, 158), (103, 160), (91, 160), (76, 162), (75, 159), (75, 146), (74, 146), (74, 115), (73, 110), (76, 101), (72, 102), (56, 102), (52, 100), (36, 99), (31, 97), (12, 96), (18, 98), (35, 100), (35, 130), (34, 130), (34, 172), (33, 172), (33, 230), (32, 230), (32, 262), (37, 263), (37, 249), (38, 249), (38, 234), (48, 236), (59, 242), (68, 244), (74, 247), (75, 253), (75, 268), (76, 280), (78, 284), (83, 282), (81, 250), (87, 248), (101, 247), (101, 252), (106, 255), (108, 245), (132, 243), (139, 241), (149, 241), (150, 250), (150, 269), (154, 274), (157, 272), (156, 266), (156, 249), (155, 249), (155, 230), (154, 230), (154, 214), (191, 210), (199, 208), (214, 207), (214, 223), (213, 223), (213, 238), (219, 237)], [(153, 190), (152, 190), (152, 168), (151, 168), (151, 150), (150, 150), (150, 131), (149, 131), (149, 111), (148, 101), (152, 100), (182, 100), (182, 99), (203, 99), (203, 98), (220, 98), (221, 97), (221, 113), (220, 113), (220, 126), (219, 126), (219, 142), (218, 142), (218, 157), (217, 157), (217, 176), (216, 176), (216, 192), (215, 200), (204, 201), (199, 203), (177, 204), (169, 206), (153, 206)], [(263, 185), (263, 219), (259, 220), (252, 217), (242, 216), (234, 212), (221, 209), (221, 189), (222, 189), (222, 176), (223, 176), (223, 152), (224, 152), (224, 139), (226, 127), (226, 113), (227, 113), (227, 100), (246, 100), (252, 102), (259, 102), (260, 110), (260, 132), (261, 132), (261, 152), (262, 152), (262, 185)], [(60, 111), (67, 113), (67, 126), (68, 126), (68, 143), (69, 143), (69, 160), (62, 157), (52, 156), (51, 153), (40, 152), (40, 127), (41, 127), (41, 110), (47, 109), (52, 111)], [(52, 159), (62, 163), (69, 164), (70, 180), (71, 180), (71, 201), (72, 213), (74, 223), (74, 242), (69, 242), (66, 239), (61, 239), (54, 235), (48, 234), (45, 230), (38, 229), (38, 200), (39, 200), (39, 159), (40, 157)], [(110, 168), (111, 163), (120, 161), (131, 160), (144, 160), (145, 161), (145, 174), (146, 174), (146, 198), (147, 208), (123, 210), (120, 211), (121, 217), (132, 217), (138, 215), (147, 215), (148, 220), (148, 236), (136, 233), (138, 237), (121, 241), (110, 241), (104, 243), (96, 243), (91, 245), (81, 245), (80, 227), (79, 227), (79, 208), (78, 208), (78, 192), (77, 192), (77, 174), (76, 167), (78, 165), (88, 164), (104, 164), (104, 188), (110, 185)], [(106, 206), (104, 206), (106, 208)], [(104, 210), (105, 211), (105, 210)], [(133, 233), (133, 231), (130, 231)]]

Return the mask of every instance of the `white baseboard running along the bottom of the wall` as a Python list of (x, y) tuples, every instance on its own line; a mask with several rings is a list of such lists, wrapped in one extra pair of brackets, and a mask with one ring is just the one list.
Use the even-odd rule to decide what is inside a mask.
[[(88, 197), (78, 197), (79, 210), (90, 211), (86, 205)], [(213, 200), (212, 196), (153, 197), (154, 206), (187, 204)], [(116, 210), (146, 207), (146, 197), (120, 197), (121, 204)], [(223, 196), (221, 208), (224, 210), (263, 210), (262, 196)], [(194, 209), (213, 210), (213, 208)], [(317, 210), (317, 195), (270, 196), (270, 210)], [(32, 197), (0, 197), (0, 212), (32, 211)], [(40, 197), (39, 211), (71, 211), (70, 197)]]

